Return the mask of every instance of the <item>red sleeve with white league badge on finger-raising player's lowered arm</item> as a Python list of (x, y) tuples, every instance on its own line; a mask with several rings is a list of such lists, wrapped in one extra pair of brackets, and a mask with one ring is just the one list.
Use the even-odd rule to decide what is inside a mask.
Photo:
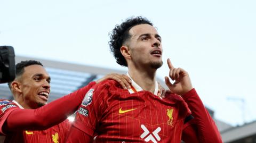
[(99, 83), (86, 93), (81, 106), (78, 108), (76, 119), (71, 126), (67, 138), (68, 142), (84, 142), (84, 140), (88, 140), (88, 136), (90, 139), (93, 138), (102, 113), (107, 107), (108, 87)]

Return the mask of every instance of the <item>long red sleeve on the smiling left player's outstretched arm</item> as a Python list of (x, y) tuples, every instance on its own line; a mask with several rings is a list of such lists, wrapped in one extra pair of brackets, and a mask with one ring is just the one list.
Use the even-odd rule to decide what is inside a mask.
[[(36, 110), (13, 110), (7, 117), (3, 127), (5, 132), (20, 130), (45, 130), (58, 124), (73, 114), (81, 104), (86, 92), (95, 82), (63, 96)], [(22, 119), (22, 120), (21, 120)]]

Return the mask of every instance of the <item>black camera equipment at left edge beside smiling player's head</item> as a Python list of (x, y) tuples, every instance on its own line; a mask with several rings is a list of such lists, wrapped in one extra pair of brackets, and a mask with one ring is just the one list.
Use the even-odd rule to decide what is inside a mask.
[(12, 46), (0, 46), (0, 83), (15, 78), (15, 55)]

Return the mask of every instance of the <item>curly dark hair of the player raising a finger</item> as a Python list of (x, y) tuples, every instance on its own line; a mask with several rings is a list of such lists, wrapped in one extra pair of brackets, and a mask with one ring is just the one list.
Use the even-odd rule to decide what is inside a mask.
[(119, 65), (127, 66), (127, 62), (124, 56), (121, 54), (120, 48), (128, 39), (131, 38), (129, 30), (139, 24), (149, 24), (150, 26), (153, 26), (153, 23), (151, 23), (147, 18), (137, 16), (135, 18), (128, 18), (120, 25), (116, 25), (113, 31), (110, 33), (110, 51), (113, 53), (114, 57), (116, 58), (116, 62)]

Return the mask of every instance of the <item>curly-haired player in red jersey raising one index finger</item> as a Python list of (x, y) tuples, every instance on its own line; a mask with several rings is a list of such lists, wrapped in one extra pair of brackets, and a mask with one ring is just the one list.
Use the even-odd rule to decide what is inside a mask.
[(163, 49), (161, 36), (150, 21), (140, 16), (127, 19), (115, 27), (110, 38), (117, 63), (128, 67), (132, 88), (122, 89), (113, 80), (94, 85), (78, 108), (68, 143), (180, 143), (181, 137), (186, 143), (221, 142), (188, 73), (174, 68), (170, 60), (169, 77), (175, 82), (168, 77), (165, 82), (172, 94), (157, 96), (156, 71), (163, 64)]

